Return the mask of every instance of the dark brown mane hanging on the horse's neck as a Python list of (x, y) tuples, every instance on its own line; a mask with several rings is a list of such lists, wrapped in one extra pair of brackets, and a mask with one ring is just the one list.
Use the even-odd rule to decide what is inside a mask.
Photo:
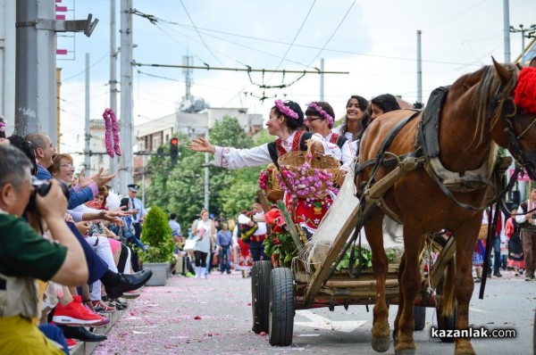
[(492, 65), (485, 66), (476, 72), (482, 73), (471, 103), (473, 114), (476, 116), (476, 129), (473, 138), (474, 140), (478, 139), (477, 145), (482, 144), (486, 129), (493, 127), (502, 117), (504, 105), (508, 99), (513, 97), (517, 86), (519, 69), (515, 64), (502, 65), (513, 74), (507, 84), (501, 81)]

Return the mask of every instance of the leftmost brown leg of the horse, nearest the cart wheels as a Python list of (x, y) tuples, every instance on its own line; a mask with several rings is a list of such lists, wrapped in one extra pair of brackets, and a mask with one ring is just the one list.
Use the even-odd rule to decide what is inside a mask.
[(382, 231), (383, 212), (376, 211), (364, 226), (366, 239), (373, 252), (373, 271), (376, 279), (376, 303), (373, 310), (373, 350), (389, 350), (389, 309), (385, 301), (385, 279), (389, 268), (387, 256), (383, 249)]

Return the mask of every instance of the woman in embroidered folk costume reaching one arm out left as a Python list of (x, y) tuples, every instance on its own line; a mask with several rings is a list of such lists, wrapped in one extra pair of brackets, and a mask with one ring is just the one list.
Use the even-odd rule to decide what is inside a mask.
[[(188, 144), (188, 147), (196, 152), (214, 154), (214, 165), (229, 169), (264, 166), (271, 162), (279, 169), (278, 159), (289, 152), (306, 151), (306, 142), (308, 140), (311, 141), (312, 151), (341, 160), (342, 154), (337, 144), (327, 142), (319, 134), (299, 130), (298, 128), (301, 128), (303, 124), (304, 113), (299, 104), (293, 101), (282, 102), (281, 100), (276, 100), (270, 111), (270, 119), (266, 122), (268, 133), (272, 136), (277, 136), (274, 142), (262, 144), (251, 149), (236, 149), (210, 144), (204, 137), (200, 136), (193, 139)], [(296, 211), (294, 204), (297, 199), (290, 197), (292, 196), (286, 199), (288, 208)], [(309, 205), (309, 208), (314, 211), (313, 213), (318, 212), (315, 215), (317, 217), (310, 219), (307, 216), (298, 216), (295, 213), (294, 218), (295, 222), (300, 225), (310, 225), (310, 228), (306, 228), (307, 230), (314, 231), (311, 229), (315, 229), (318, 226), (329, 205), (325, 202), (309, 203)]]

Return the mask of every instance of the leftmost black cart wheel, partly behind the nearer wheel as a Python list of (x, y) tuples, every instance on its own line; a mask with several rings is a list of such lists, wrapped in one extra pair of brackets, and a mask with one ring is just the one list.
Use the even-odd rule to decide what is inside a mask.
[(251, 310), (253, 312), (254, 333), (268, 333), (268, 318), (270, 313), (270, 272), (272, 261), (255, 261), (251, 268)]

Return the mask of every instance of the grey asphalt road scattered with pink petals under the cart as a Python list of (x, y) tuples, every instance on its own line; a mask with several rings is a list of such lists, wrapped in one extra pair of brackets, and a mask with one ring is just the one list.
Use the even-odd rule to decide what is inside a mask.
[[(512, 328), (515, 339), (474, 339), (481, 354), (532, 354), (536, 283), (510, 273), (488, 281), (483, 300), (475, 288), (470, 321), (475, 327)], [(251, 284), (238, 273), (206, 280), (172, 277), (164, 287), (146, 287), (95, 354), (375, 354), (370, 346), (372, 308), (298, 310), (293, 343), (272, 347), (268, 335), (251, 331)], [(397, 307), (389, 310), (389, 323)], [(437, 325), (428, 309), (426, 327), (415, 332), (419, 354), (453, 354), (454, 344), (432, 339)], [(386, 354), (394, 354), (393, 346)]]

